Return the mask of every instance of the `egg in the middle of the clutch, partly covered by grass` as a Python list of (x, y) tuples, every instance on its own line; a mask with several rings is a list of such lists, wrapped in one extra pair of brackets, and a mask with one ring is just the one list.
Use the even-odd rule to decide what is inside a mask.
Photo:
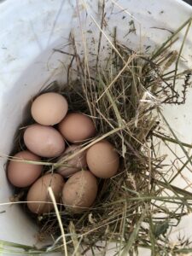
[[(65, 160), (70, 155), (77, 153), (79, 151), (79, 149), (80, 149), (79, 145), (69, 146), (66, 149), (65, 154), (58, 161), (58, 163)], [(59, 172), (63, 177), (69, 177), (72, 174), (74, 174), (75, 172), (78, 172), (78, 171), (84, 169), (87, 166), (86, 152), (84, 151), (79, 154), (76, 154), (73, 157), (73, 159), (68, 160), (64, 164), (66, 164), (67, 166), (61, 166), (57, 170), (57, 172)]]

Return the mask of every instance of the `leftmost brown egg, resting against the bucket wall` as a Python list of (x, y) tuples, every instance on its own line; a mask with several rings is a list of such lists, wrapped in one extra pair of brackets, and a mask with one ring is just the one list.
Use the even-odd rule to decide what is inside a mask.
[[(21, 151), (15, 154), (15, 160), (40, 161), (41, 159), (29, 151)], [(10, 160), (7, 173), (9, 182), (18, 188), (30, 186), (41, 175), (43, 166), (33, 165), (22, 161)]]

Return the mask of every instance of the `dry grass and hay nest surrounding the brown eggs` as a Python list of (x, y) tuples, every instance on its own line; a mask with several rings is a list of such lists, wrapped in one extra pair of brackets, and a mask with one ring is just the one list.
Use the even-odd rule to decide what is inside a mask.
[[(41, 252), (61, 251), (67, 247), (77, 255), (84, 255), (90, 249), (93, 254), (95, 251), (105, 253), (110, 242), (114, 242), (118, 251), (124, 253), (122, 255), (137, 252), (138, 247), (151, 249), (153, 255), (165, 250), (167, 253), (182, 252), (183, 246), (170, 246), (166, 234), (172, 220), (178, 222), (188, 212), (191, 195), (172, 186), (168, 172), (166, 176), (163, 173), (165, 155), (159, 154), (160, 141), (189, 146), (179, 142), (172, 130), (172, 136), (166, 136), (162, 125), (163, 121), (169, 128), (161, 111), (162, 105), (183, 104), (191, 76), (189, 70), (177, 73), (177, 66), (169, 71), (180, 58), (179, 52), (170, 50), (177, 33), (151, 55), (137, 54), (118, 42), (114, 33), (114, 48), (105, 62), (98, 61), (98, 51), (91, 67), (78, 53), (71, 34), (73, 52), (70, 53), (67, 84), (53, 82), (40, 93), (59, 92), (67, 97), (70, 110), (90, 115), (98, 132), (97, 137), (84, 143), (84, 149), (107, 138), (119, 153), (120, 167), (116, 176), (99, 181), (99, 193), (89, 211), (72, 214), (58, 206), (65, 245), (56, 212), (38, 217), (32, 215), (40, 228), (39, 238), (55, 237), (54, 244), (42, 248)], [(181, 79), (182, 90), (175, 87), (176, 79)], [(20, 126), (31, 123), (29, 117)], [(20, 149), (25, 149), (22, 129), (17, 134), (12, 153)], [(55, 170), (55, 160), (47, 163), (48, 166), (43, 163), (44, 172), (49, 172), (50, 168)], [(168, 195), (168, 190), (173, 195)], [(25, 201), (26, 191), (19, 189), (15, 194)], [(177, 202), (182, 211), (167, 209), (167, 202)], [(157, 215), (160, 218), (156, 218)], [(188, 247), (188, 241), (182, 242)], [(28, 250), (36, 252), (38, 249)]]

